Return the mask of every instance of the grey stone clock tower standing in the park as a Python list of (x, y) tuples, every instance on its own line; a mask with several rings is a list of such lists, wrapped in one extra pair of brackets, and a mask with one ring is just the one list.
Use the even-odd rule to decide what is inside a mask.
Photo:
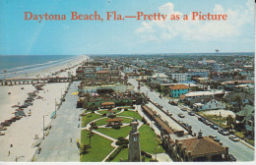
[(137, 130), (139, 123), (135, 120), (132, 121), (132, 131), (129, 134), (129, 162), (141, 161), (141, 145), (140, 145), (140, 133)]

